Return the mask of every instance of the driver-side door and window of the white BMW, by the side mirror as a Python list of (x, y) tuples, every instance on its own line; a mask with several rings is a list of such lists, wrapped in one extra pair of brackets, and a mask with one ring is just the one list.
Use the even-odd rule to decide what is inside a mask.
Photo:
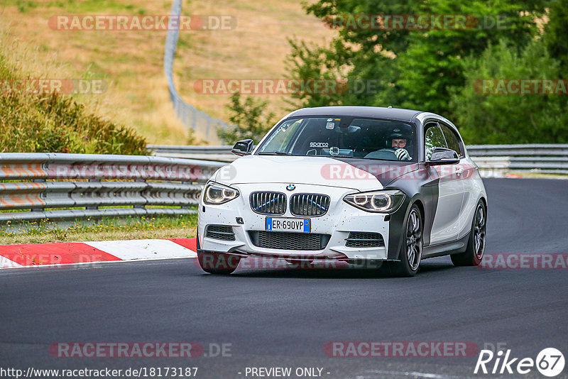
[[(439, 123), (426, 123), (424, 133), (425, 160), (435, 148), (448, 148)], [(438, 202), (435, 209), (430, 245), (455, 241), (459, 233), (459, 215), (464, 199), (464, 184), (456, 175), (459, 165), (428, 166), (429, 174), (438, 178)]]

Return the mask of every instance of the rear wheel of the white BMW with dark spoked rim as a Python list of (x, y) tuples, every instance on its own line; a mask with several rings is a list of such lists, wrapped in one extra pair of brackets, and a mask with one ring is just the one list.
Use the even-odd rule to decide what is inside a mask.
[(487, 229), (487, 209), (479, 200), (471, 221), (471, 232), (464, 253), (452, 254), (452, 263), (457, 266), (478, 266), (484, 259)]

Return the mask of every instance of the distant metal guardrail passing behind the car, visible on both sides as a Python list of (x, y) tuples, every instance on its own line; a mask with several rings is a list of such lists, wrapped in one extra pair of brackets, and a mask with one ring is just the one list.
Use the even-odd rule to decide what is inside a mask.
[[(148, 145), (148, 150), (163, 157), (230, 162), (238, 158), (231, 154), (231, 147)], [(568, 174), (568, 144), (469, 145), (467, 151), (484, 177), (501, 177), (510, 172)]]

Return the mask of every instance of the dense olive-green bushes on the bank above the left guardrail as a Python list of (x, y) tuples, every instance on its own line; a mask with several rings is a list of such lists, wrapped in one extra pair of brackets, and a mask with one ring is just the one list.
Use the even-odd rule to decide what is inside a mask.
[[(0, 77), (16, 79), (0, 56)], [(0, 151), (12, 153), (146, 154), (133, 129), (85, 111), (58, 94), (0, 94)]]

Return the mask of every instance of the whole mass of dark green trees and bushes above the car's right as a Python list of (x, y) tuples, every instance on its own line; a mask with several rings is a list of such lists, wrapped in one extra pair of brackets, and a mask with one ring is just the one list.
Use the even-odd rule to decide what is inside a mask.
[(324, 48), (293, 40), (290, 77), (378, 84), (362, 93), (302, 94), (300, 106), (432, 111), (455, 120), (466, 143), (568, 141), (567, 95), (481, 95), (473, 87), (484, 78), (566, 78), (568, 0), (320, 0), (307, 12), (328, 23), (346, 14), (472, 15), (476, 22), (422, 31), (340, 28)]

